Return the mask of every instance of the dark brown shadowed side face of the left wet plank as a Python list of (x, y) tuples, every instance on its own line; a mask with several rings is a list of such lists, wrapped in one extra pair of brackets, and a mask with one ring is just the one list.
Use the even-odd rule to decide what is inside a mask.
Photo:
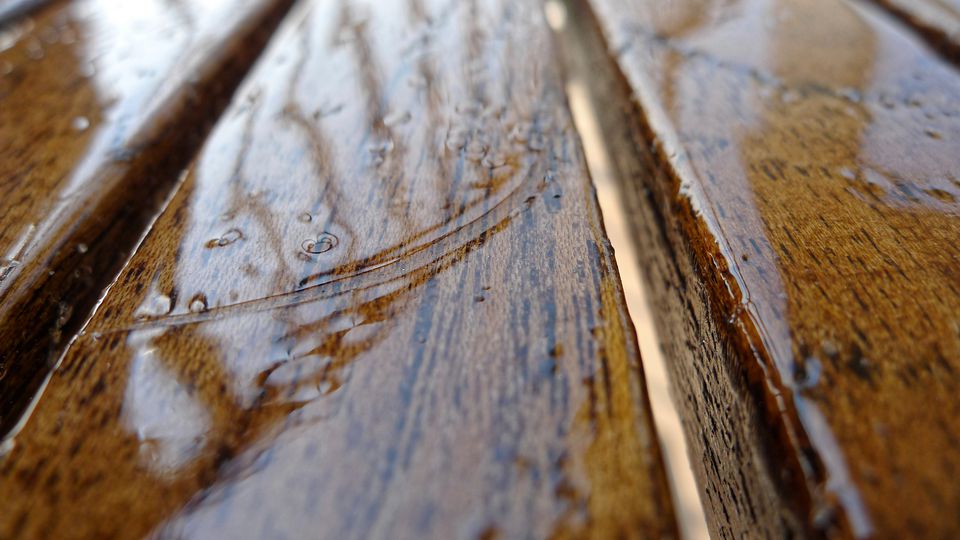
[[(62, 223), (55, 245), (44, 246), (35, 268), (11, 284), (0, 312), (0, 439), (28, 411), (296, 1), (269, 0), (258, 20), (243, 24), (223, 45), (229, 54), (201, 69), (192, 92), (157, 111), (168, 120), (147, 122), (132, 138), (127, 148), (134, 157), (117, 179), (68, 209), (67, 218), (56, 218)], [(116, 174), (109, 169), (103, 176)], [(83, 253), (75, 249), (80, 244)]]

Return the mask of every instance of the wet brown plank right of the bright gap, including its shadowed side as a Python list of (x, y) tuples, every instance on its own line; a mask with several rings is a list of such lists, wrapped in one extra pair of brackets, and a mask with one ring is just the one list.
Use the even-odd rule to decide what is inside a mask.
[(575, 7), (712, 533), (956, 536), (955, 67), (858, 3)]

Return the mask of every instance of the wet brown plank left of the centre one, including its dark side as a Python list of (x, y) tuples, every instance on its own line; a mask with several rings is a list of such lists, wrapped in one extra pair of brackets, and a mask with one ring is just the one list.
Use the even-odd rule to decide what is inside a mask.
[(3, 30), (0, 436), (290, 3), (55, 2)]

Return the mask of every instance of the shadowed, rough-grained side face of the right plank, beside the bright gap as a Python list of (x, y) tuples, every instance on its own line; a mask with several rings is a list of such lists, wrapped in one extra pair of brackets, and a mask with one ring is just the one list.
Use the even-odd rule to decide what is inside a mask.
[[(630, 209), (630, 232), (646, 288), (652, 295), (653, 318), (665, 345), (670, 384), (673, 395), (678, 396), (677, 407), (691, 444), (691, 466), (711, 536), (737, 536), (737, 532), (718, 524), (729, 523), (729, 519), (715, 517), (737, 512), (754, 516), (754, 532), (760, 536), (819, 537), (820, 532), (804, 519), (811, 507), (803, 487), (818, 479), (811, 479), (804, 464), (796, 459), (797, 449), (782, 432), (784, 418), (776, 410), (758, 406), (767, 398), (767, 390), (756, 382), (758, 375), (754, 373), (760, 360), (741, 357), (742, 347), (734, 340), (743, 336), (721, 331), (725, 324), (722, 314), (729, 309), (715, 294), (720, 286), (712, 283), (716, 277), (711, 268), (700, 264), (694, 255), (697, 248), (680, 230), (679, 221), (684, 219), (681, 214), (689, 209), (683, 208), (675, 196), (679, 185), (675, 171), (664, 160), (646, 112), (631, 99), (632, 87), (604, 41), (600, 21), (585, 0), (564, 3), (573, 21), (565, 31), (564, 63), (566, 69), (589, 82), (586, 90), (598, 112), (604, 143), (610, 149), (613, 176)], [(691, 273), (699, 279), (685, 279)], [(666, 281), (653, 281), (653, 276)], [(691, 298), (695, 299), (693, 304), (688, 303)], [(682, 325), (678, 326), (677, 318)], [(699, 342), (705, 336), (714, 355), (710, 365), (684, 358), (690, 351), (683, 344)], [(721, 403), (698, 385), (702, 380), (724, 379), (740, 398), (736, 403)], [(774, 427), (760, 431), (740, 426), (733, 444), (718, 442), (722, 438), (717, 436), (718, 416), (714, 415), (721, 410), (729, 416), (751, 419), (752, 426)], [(712, 436), (705, 435), (708, 433)], [(818, 456), (810, 459), (815, 461)], [(743, 465), (728, 467), (729, 463)], [(744, 479), (742, 469), (748, 465), (763, 471), (765, 477)], [(736, 495), (736, 504), (729, 505), (729, 500), (718, 495), (726, 491), (744, 496)], [(759, 514), (765, 519), (756, 519)], [(777, 522), (769, 516), (776, 516)]]

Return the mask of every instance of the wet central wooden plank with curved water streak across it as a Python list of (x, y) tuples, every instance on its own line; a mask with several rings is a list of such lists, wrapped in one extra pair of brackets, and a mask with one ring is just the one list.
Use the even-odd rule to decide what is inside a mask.
[(540, 7), (298, 8), (12, 441), (0, 536), (674, 537)]

